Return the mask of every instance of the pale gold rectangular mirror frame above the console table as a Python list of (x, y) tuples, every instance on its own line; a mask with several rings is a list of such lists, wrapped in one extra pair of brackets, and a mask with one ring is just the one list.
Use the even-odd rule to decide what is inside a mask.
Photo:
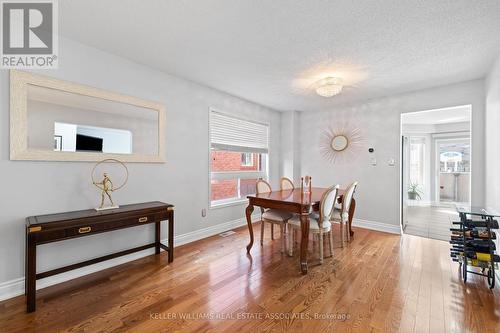
[[(83, 96), (130, 104), (158, 112), (158, 153), (156, 155), (110, 154), (92, 152), (56, 152), (28, 148), (28, 85), (56, 89)], [(25, 161), (97, 162), (102, 159), (123, 162), (165, 162), (165, 106), (132, 96), (106, 91), (82, 84), (17, 70), (10, 71), (10, 159)]]

